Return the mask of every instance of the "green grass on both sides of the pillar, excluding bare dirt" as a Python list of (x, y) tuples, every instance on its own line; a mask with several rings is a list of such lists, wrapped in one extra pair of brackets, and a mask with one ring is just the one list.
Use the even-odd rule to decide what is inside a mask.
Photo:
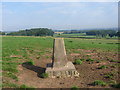
[[(67, 53), (72, 53), (72, 50), (101, 50), (106, 52), (118, 51), (117, 39), (78, 39), (65, 38), (65, 46)], [(46, 53), (50, 54), (49, 49), (53, 48), (52, 37), (12, 37), (4, 36), (2, 38), (2, 70), (3, 70), (3, 87), (20, 87), (15, 85), (7, 78), (19, 81), (17, 66), (23, 61), (32, 61), (29, 58), (29, 53), (35, 56), (42, 56)], [(50, 57), (47, 57), (50, 58)], [(21, 61), (20, 61), (21, 60)], [(9, 80), (9, 79), (8, 79)]]

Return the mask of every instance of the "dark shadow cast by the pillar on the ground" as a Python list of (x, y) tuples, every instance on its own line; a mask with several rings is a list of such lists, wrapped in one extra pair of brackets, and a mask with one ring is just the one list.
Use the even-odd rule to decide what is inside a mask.
[(32, 71), (36, 72), (36, 73), (37, 73), (37, 76), (38, 76), (39, 78), (41, 78), (41, 74), (42, 74), (42, 73), (45, 73), (45, 68), (43, 68), (43, 67), (38, 67), (38, 66), (35, 66), (35, 65), (32, 65), (32, 64), (29, 64), (28, 62), (24, 62), (24, 63), (22, 64), (22, 66), (25, 67), (25, 68), (27, 68), (27, 69), (29, 69), (29, 70), (32, 70)]

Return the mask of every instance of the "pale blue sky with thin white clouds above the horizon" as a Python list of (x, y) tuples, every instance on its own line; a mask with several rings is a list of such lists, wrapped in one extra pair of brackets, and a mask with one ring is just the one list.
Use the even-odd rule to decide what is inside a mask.
[(4, 31), (37, 27), (51, 29), (114, 28), (118, 26), (118, 3), (3, 2), (2, 16)]

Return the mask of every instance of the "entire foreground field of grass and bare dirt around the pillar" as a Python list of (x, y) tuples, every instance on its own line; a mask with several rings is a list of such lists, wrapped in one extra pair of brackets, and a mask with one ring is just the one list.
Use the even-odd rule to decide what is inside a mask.
[(52, 37), (2, 38), (4, 88), (117, 88), (118, 40), (65, 38), (69, 61), (80, 73), (74, 78), (42, 78), (52, 61)]

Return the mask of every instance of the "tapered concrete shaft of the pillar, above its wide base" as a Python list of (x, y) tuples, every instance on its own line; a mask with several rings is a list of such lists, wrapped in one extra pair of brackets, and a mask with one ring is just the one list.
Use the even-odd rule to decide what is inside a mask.
[(67, 64), (67, 55), (63, 38), (54, 39), (53, 67), (63, 67)]

